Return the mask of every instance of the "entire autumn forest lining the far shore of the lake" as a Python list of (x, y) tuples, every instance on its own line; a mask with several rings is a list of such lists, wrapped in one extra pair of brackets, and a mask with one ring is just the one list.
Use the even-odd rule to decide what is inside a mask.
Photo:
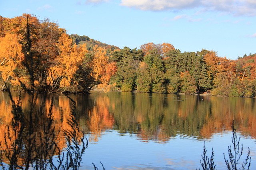
[(170, 43), (120, 49), (85, 35), (68, 35), (48, 18), (0, 16), (2, 91), (33, 86), (38, 92), (97, 89), (255, 97), (255, 61), (256, 54), (230, 60), (206, 49), (181, 52)]

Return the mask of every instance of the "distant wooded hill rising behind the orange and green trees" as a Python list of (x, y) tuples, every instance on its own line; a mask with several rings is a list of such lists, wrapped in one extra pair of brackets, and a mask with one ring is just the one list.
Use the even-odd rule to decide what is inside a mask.
[(71, 34), (70, 37), (73, 39), (73, 43), (76, 43), (77, 45), (86, 44), (87, 49), (89, 51), (92, 50), (92, 47), (94, 47), (95, 45), (98, 45), (99, 47), (104, 47), (105, 49), (107, 49), (108, 52), (114, 51), (115, 49), (120, 49), (119, 47), (116, 47), (114, 45), (101, 43), (100, 41), (91, 39), (90, 37), (88, 37), (86, 35), (80, 36), (77, 34)]

